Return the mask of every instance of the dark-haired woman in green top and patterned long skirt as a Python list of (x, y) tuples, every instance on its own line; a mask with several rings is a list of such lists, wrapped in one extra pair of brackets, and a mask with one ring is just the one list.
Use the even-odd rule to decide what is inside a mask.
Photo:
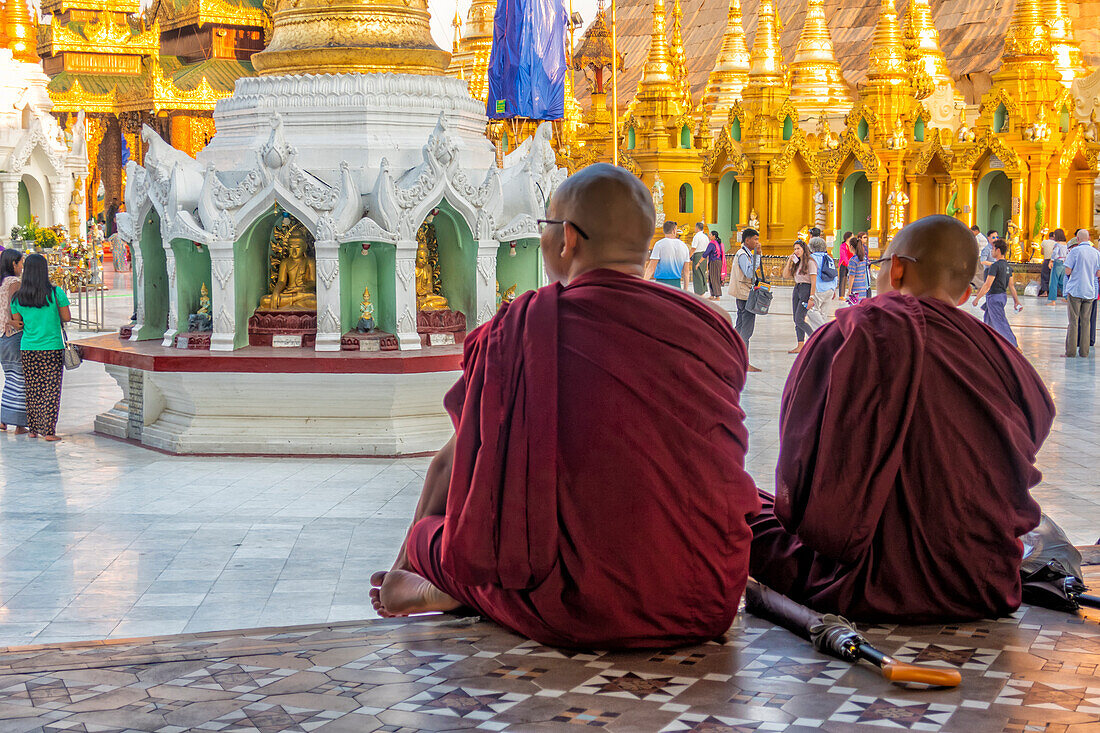
[(54, 430), (65, 372), (62, 324), (67, 324), (72, 316), (65, 291), (50, 282), (50, 267), (41, 254), (23, 258), (23, 282), (11, 299), (11, 317), (23, 328), (20, 346), (31, 437), (41, 435), (46, 440), (61, 440)]

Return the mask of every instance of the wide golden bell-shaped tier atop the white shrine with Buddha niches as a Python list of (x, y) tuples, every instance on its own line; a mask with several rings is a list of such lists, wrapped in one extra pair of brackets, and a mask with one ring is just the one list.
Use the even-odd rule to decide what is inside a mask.
[(279, 2), (271, 43), (252, 56), (264, 76), (441, 75), (451, 55), (431, 40), (428, 0)]

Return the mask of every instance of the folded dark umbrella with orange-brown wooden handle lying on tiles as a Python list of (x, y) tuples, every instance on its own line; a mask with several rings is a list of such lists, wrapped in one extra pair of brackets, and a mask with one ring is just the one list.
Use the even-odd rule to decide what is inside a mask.
[(935, 687), (957, 687), (963, 676), (957, 669), (942, 669), (899, 661), (871, 646), (843, 616), (821, 614), (749, 578), (745, 605), (760, 616), (809, 639), (814, 647), (853, 664), (866, 659), (891, 682), (919, 682)]

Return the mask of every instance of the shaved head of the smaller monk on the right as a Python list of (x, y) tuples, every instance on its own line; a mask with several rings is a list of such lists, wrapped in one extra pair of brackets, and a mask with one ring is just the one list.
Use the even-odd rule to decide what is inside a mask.
[(887, 250), (888, 256), (894, 254), (915, 260), (915, 282), (906, 285), (916, 295), (942, 292), (957, 300), (978, 266), (974, 233), (958, 219), (941, 215), (917, 219), (898, 232)]

